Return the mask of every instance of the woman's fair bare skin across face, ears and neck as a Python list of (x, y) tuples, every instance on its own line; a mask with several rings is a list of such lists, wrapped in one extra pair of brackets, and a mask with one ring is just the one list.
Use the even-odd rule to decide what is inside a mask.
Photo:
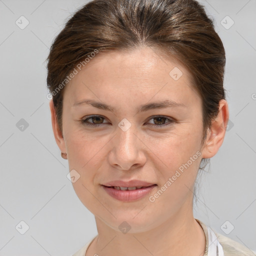
[[(177, 80), (169, 75), (174, 67), (182, 71)], [(193, 217), (193, 186), (201, 159), (214, 156), (223, 142), (228, 105), (220, 100), (218, 116), (202, 145), (202, 101), (190, 81), (177, 59), (140, 46), (129, 52), (100, 52), (72, 78), (63, 96), (62, 133), (50, 101), (56, 143), (67, 153), (69, 170), (80, 175), (73, 188), (95, 216), (98, 236), (86, 256), (203, 255), (205, 237)], [(83, 99), (113, 109), (75, 104)], [(184, 106), (137, 112), (140, 105), (166, 99)], [(85, 120), (90, 115), (99, 117)], [(118, 126), (123, 118), (131, 124), (126, 131)], [(149, 201), (196, 151), (200, 156)], [(102, 187), (111, 180), (131, 179), (157, 186), (135, 201), (119, 201)], [(127, 233), (118, 228), (123, 221), (131, 227)]]

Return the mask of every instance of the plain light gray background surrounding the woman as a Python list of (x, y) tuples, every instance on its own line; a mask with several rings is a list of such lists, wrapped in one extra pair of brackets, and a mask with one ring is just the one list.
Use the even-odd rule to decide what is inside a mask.
[[(226, 50), (230, 118), (198, 180), (194, 216), (256, 251), (256, 1), (200, 2)], [(64, 22), (85, 3), (0, 0), (0, 255), (71, 255), (97, 234), (53, 137), (44, 62)], [(29, 21), (23, 29), (15, 23), (21, 15)], [(227, 15), (234, 21), (228, 29)]]

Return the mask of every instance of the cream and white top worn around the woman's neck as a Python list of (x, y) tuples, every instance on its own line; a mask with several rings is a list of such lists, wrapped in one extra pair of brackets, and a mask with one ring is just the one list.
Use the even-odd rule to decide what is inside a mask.
[[(203, 256), (256, 256), (256, 254), (246, 246), (230, 239), (227, 236), (214, 232), (202, 221), (198, 219), (195, 220), (202, 227), (205, 236), (205, 250)], [(85, 256), (87, 248), (96, 236), (97, 235), (95, 235), (72, 256)]]

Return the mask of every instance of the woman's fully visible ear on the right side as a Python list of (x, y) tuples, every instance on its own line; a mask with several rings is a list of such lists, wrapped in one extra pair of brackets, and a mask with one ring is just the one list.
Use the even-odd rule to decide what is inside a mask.
[(214, 156), (221, 146), (229, 118), (228, 105), (226, 100), (221, 99), (218, 104), (218, 115), (211, 122), (210, 131), (202, 148), (202, 158)]

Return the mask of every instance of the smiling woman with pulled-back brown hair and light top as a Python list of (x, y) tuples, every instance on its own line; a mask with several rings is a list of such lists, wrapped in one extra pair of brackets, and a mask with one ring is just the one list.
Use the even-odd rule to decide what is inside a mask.
[(52, 127), (98, 234), (74, 255), (254, 255), (193, 217), (228, 121), (225, 51), (194, 0), (93, 0), (48, 56)]

